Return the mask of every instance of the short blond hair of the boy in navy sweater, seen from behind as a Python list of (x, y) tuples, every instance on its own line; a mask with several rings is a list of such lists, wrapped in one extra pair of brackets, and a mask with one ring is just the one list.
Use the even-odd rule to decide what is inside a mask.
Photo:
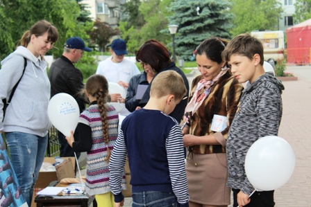
[(187, 89), (183, 78), (176, 71), (163, 71), (153, 79), (150, 93), (150, 96), (155, 98), (172, 94), (177, 100), (181, 100)]

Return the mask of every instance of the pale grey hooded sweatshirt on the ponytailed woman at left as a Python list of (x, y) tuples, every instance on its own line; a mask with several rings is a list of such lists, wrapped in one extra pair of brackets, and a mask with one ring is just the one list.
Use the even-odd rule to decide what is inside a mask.
[[(26, 57), (27, 66), (3, 120), (2, 99), (8, 100), (12, 88), (22, 76), (24, 57)], [(46, 69), (47, 62), (41, 60), (40, 57), (35, 57), (24, 46), (19, 46), (1, 62), (0, 131), (24, 132), (37, 136), (47, 135), (51, 127), (47, 114), (51, 84)]]

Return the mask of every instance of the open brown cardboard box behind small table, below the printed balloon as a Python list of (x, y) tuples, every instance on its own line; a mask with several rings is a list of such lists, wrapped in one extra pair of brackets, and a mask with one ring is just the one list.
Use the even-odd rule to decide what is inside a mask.
[[(62, 157), (65, 159), (59, 165), (56, 165), (56, 171), (53, 172), (39, 172), (39, 177), (37, 178), (37, 182), (35, 183), (35, 189), (33, 190), (33, 200), (31, 201), (31, 207), (36, 207), (35, 197), (37, 196), (37, 192), (43, 190), (51, 181), (60, 181), (63, 178), (72, 178), (75, 177), (74, 165), (76, 159), (74, 157)], [(54, 157), (44, 157), (44, 161), (46, 163), (55, 163)]]

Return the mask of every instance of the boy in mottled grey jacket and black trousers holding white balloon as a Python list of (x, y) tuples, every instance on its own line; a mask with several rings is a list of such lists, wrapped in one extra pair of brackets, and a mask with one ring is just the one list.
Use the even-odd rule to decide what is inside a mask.
[(244, 161), (258, 138), (278, 135), (284, 86), (272, 73), (264, 73), (262, 43), (249, 34), (234, 37), (222, 55), (235, 78), (250, 83), (242, 93), (226, 144), (227, 186), (233, 190), (233, 206), (274, 206), (274, 190), (251, 195), (255, 189), (246, 177)]

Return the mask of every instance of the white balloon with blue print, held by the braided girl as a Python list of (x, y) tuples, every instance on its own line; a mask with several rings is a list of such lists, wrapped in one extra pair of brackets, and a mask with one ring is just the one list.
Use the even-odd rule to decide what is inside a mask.
[(74, 97), (68, 93), (57, 93), (49, 101), (47, 113), (51, 123), (65, 136), (70, 136), (76, 129), (80, 110)]

